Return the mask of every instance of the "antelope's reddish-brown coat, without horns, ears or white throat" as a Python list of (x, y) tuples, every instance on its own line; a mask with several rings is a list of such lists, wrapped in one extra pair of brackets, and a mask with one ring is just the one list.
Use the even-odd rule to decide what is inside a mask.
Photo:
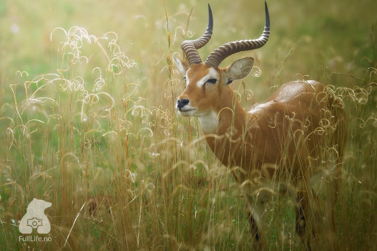
[[(219, 68), (219, 82), (206, 85), (204, 92), (196, 82), (208, 74), (205, 64), (192, 65), (187, 71), (189, 85), (179, 99), (189, 99), (200, 111), (218, 114), (216, 134), (206, 140), (216, 157), (231, 168), (246, 193), (251, 227), (259, 240), (264, 222), (263, 205), (268, 194), (259, 193), (266, 184), (289, 183), (296, 193), (296, 230), (305, 246), (315, 245), (317, 226), (322, 221), (313, 206), (322, 200), (310, 187), (311, 179), (328, 181), (329, 196), (325, 217), (328, 228), (336, 232), (334, 205), (340, 186), (340, 166), (346, 139), (342, 104), (316, 81), (292, 81), (282, 85), (265, 104), (255, 104), (246, 112), (230, 85), (223, 79), (227, 68)], [(330, 172), (325, 177), (316, 174)], [(284, 190), (284, 189), (283, 189)], [(260, 197), (255, 198), (255, 194)], [(305, 222), (306, 220), (306, 222)], [(304, 222), (304, 223), (303, 223)], [(305, 224), (310, 222), (310, 230)], [(333, 242), (333, 243), (331, 243)], [(334, 240), (329, 240), (334, 248)], [(331, 248), (331, 247), (330, 247)]]

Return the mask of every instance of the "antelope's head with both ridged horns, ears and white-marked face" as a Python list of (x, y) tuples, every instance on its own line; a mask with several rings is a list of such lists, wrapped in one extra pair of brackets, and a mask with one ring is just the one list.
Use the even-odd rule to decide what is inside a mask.
[(270, 35), (267, 3), (265, 3), (265, 15), (265, 27), (261, 37), (224, 44), (214, 50), (205, 62), (202, 62), (198, 49), (208, 43), (213, 31), (213, 16), (208, 5), (208, 26), (204, 35), (196, 40), (182, 42), (181, 48), (187, 61), (174, 57), (185, 79), (185, 89), (178, 97), (176, 110), (185, 117), (199, 117), (205, 132), (213, 133), (217, 125), (213, 122), (213, 125), (205, 126), (204, 124), (208, 124), (208, 116), (215, 120), (221, 108), (232, 107), (234, 94), (229, 84), (234, 80), (245, 78), (253, 67), (254, 59), (242, 58), (225, 68), (219, 67), (220, 63), (234, 53), (254, 50), (267, 43)]

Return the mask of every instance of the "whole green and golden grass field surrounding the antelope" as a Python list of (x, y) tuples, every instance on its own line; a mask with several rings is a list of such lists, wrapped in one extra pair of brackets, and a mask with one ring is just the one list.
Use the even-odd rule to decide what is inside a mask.
[[(202, 58), (261, 34), (263, 1), (208, 2), (215, 24)], [(232, 84), (245, 108), (291, 79), (333, 86), (348, 124), (337, 246), (373, 250), (377, 3), (268, 6), (266, 46), (221, 66), (254, 57), (261, 72)], [(172, 55), (182, 58), (181, 41), (200, 36), (207, 15), (194, 0), (0, 2), (0, 250), (252, 248), (238, 184), (197, 119), (175, 113), (183, 84)], [(33, 198), (52, 203), (46, 241), (19, 239)], [(289, 203), (270, 209), (269, 249), (302, 250)]]

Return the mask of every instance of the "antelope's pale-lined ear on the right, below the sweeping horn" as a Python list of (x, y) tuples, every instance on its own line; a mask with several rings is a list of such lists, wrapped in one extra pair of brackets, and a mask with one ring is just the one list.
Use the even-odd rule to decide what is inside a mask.
[(234, 80), (246, 78), (253, 68), (253, 64), (253, 58), (241, 58), (234, 61), (233, 64), (225, 68), (225, 71), (223, 72), (222, 76), (225, 80), (225, 84), (228, 85)]

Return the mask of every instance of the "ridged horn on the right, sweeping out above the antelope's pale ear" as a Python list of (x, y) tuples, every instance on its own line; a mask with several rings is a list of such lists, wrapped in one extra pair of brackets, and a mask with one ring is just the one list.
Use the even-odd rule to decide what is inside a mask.
[(223, 44), (222, 46), (214, 50), (208, 56), (204, 64), (217, 69), (220, 63), (228, 56), (237, 52), (242, 52), (244, 50), (258, 49), (267, 43), (268, 37), (270, 37), (270, 14), (268, 14), (268, 7), (267, 7), (266, 1), (264, 3), (265, 3), (266, 21), (264, 25), (264, 31), (261, 37), (254, 40), (241, 40), (241, 41), (234, 41), (227, 44)]

